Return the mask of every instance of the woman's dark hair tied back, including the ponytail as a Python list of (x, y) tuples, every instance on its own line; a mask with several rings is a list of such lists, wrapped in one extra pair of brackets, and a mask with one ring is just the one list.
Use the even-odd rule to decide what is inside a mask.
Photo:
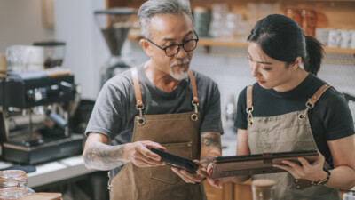
[(248, 36), (270, 58), (292, 64), (300, 56), (304, 70), (317, 75), (323, 58), (323, 47), (304, 31), (296, 21), (280, 14), (271, 14), (256, 22)]

